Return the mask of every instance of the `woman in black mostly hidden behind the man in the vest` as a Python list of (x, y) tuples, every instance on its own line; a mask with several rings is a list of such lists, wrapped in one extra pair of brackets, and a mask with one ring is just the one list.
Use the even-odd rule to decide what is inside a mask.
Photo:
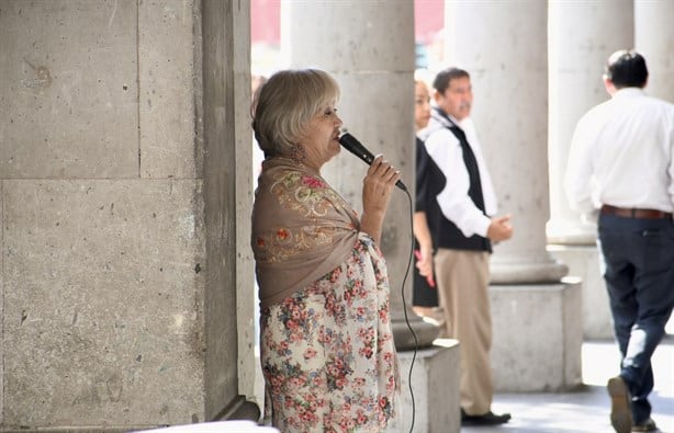
[[(415, 80), (414, 83), (414, 126), (418, 133), (428, 125), (430, 119), (430, 95), (428, 88), (423, 80)], [(424, 143), (416, 138), (416, 197), (424, 196), (426, 187), (427, 170), (436, 169), (428, 167), (433, 161), (426, 157), (424, 151)], [(415, 208), (423, 207), (423, 203), (417, 203)], [(422, 317), (429, 318), (436, 322), (440, 322), (438, 317), (438, 290), (436, 288), (435, 277), (433, 274), (433, 239), (426, 215), (423, 212), (415, 212), (413, 220), (414, 237), (416, 240), (415, 254), (417, 255), (416, 267), (414, 272), (414, 284), (412, 293), (413, 310)]]

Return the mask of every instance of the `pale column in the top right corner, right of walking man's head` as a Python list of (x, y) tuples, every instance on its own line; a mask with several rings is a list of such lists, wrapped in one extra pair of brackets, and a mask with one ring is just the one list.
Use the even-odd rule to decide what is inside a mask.
[(649, 67), (647, 92), (674, 101), (674, 1), (634, 0), (634, 47)]

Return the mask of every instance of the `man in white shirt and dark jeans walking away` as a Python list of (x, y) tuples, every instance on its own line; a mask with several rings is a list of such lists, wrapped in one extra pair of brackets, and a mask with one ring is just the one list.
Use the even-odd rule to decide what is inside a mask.
[(608, 380), (618, 433), (653, 432), (648, 396), (651, 355), (674, 306), (674, 105), (647, 96), (645, 60), (633, 50), (609, 58), (610, 100), (580, 121), (565, 189), (571, 207), (598, 214), (598, 247), (622, 354)]

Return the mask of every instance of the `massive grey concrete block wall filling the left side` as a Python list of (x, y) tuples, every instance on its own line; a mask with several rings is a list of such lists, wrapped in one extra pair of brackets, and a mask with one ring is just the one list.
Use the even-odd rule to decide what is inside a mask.
[[(222, 4), (221, 26), (249, 13)], [(250, 172), (204, 149), (250, 138), (232, 115), (234, 143), (203, 137), (201, 32), (200, 0), (0, 1), (0, 430), (204, 421), (246, 394)]]

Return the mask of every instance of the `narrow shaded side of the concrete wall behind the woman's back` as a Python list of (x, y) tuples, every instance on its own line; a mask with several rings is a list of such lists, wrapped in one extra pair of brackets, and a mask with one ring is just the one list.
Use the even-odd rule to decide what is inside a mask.
[[(250, 249), (252, 132), (250, 113), (241, 109), (250, 106), (250, 41), (246, 36), (250, 34), (250, 2), (201, 0), (201, 27), (194, 27), (194, 78), (199, 83), (195, 124), (199, 127), (203, 121), (203, 130), (196, 134), (194, 153), (204, 155), (205, 415), (207, 420), (256, 420), (259, 408), (255, 406), (261, 408), (263, 401), (249, 401), (259, 366), (254, 350), (257, 298)], [(223, 404), (234, 389), (236, 397)]]

